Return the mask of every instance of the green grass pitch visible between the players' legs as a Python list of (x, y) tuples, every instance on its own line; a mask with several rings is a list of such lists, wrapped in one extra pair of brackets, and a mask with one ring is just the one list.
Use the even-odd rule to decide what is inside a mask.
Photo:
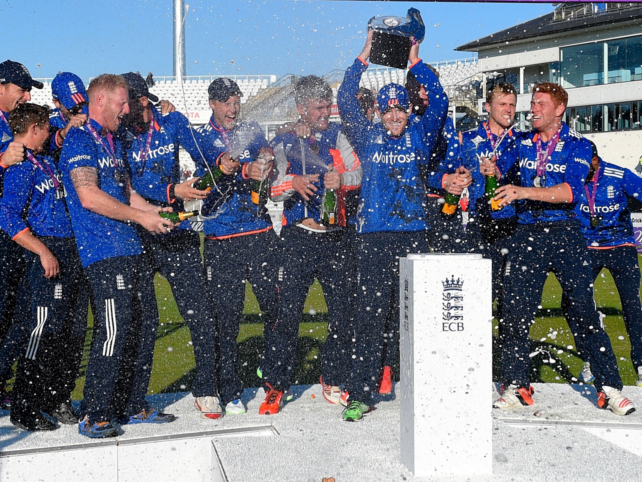
[[(150, 380), (149, 393), (168, 391), (189, 391), (194, 377), (194, 354), (191, 347), (189, 330), (178, 314), (176, 303), (166, 280), (156, 276), (156, 293), (160, 315), (156, 348)], [(531, 359), (532, 381), (534, 382), (576, 382), (582, 361), (575, 353), (575, 342), (566, 320), (560, 312), (561, 288), (557, 280), (550, 276), (544, 286), (542, 296), (542, 316), (531, 327), (532, 351), (541, 348), (542, 353)], [(605, 327), (620, 364), (624, 384), (631, 385), (637, 379), (630, 361), (630, 341), (621, 316), (620, 298), (608, 271), (602, 271), (595, 283), (595, 301), (598, 310), (606, 315)], [(256, 376), (259, 353), (263, 346), (263, 327), (256, 323), (259, 313), (256, 298), (247, 289), (245, 310), (239, 321), (239, 373), (247, 387), (259, 386)], [(313, 384), (318, 382), (320, 347), (327, 336), (327, 307), (322, 289), (315, 282), (309, 290), (308, 300), (302, 314), (299, 329), (299, 354), (295, 382)], [(91, 316), (89, 325), (92, 325)], [(494, 339), (497, 336), (497, 323), (493, 323)], [(85, 357), (73, 393), (74, 399), (82, 397), (84, 373), (87, 367), (87, 353), (91, 330), (85, 342)], [(569, 348), (571, 346), (572, 348)], [(550, 356), (555, 363), (550, 363)], [(494, 357), (498, 368), (498, 357)]]

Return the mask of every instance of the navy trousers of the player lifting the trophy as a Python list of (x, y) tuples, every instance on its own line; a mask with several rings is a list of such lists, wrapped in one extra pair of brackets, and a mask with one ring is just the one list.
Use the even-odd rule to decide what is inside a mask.
[(394, 353), (399, 346), (399, 258), (427, 250), (424, 231), (359, 236), (355, 247), (356, 345), (345, 385), (354, 400), (374, 395), (381, 367), (390, 364), (385, 361), (386, 352)]

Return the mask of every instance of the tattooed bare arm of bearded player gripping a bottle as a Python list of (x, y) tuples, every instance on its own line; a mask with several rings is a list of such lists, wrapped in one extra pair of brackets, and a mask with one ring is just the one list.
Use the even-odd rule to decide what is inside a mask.
[(78, 199), (83, 208), (93, 213), (118, 221), (137, 222), (152, 233), (167, 233), (173, 224), (161, 218), (157, 211), (142, 211), (118, 201), (98, 187), (98, 170), (81, 166), (69, 172)]

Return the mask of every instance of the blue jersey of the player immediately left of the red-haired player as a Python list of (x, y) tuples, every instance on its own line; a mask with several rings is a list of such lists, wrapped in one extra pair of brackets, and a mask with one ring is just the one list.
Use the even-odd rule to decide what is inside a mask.
[[(475, 215), (480, 211), (480, 213), (490, 213), (490, 216), (493, 219), (514, 217), (515, 207), (511, 204), (504, 206), (504, 208), (499, 211), (492, 211), (488, 209), (487, 206), (481, 205), (482, 203), (487, 204), (489, 200), (485, 198), (486, 177), (480, 172), (480, 160), (482, 157), (489, 158), (492, 156), (493, 142), (496, 143), (499, 140), (499, 136), (487, 131), (486, 126), (487, 122), (483, 122), (477, 129), (462, 132), (462, 148), (460, 151), (460, 157), (455, 162), (440, 163), (437, 168), (439, 174), (438, 182), (441, 183), (444, 174), (452, 174), (460, 165), (464, 166), (470, 170), (471, 175), (473, 175), (473, 183), (468, 187), (470, 200), (468, 209), (471, 212), (471, 215)], [(492, 136), (492, 141), (490, 136)], [(501, 153), (504, 150), (507, 150), (510, 146), (514, 145), (519, 136), (521, 136), (521, 132), (510, 130), (497, 148), (497, 157), (501, 156)], [(504, 175), (504, 183), (507, 183), (507, 174)]]

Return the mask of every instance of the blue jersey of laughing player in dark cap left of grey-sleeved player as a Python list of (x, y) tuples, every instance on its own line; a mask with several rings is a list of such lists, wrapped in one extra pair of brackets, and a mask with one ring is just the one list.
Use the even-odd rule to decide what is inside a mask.
[[(220, 193), (213, 189), (203, 203), (205, 222), (203, 231), (209, 238), (229, 238), (251, 233), (260, 233), (272, 228), (269, 219), (259, 215), (257, 205), (252, 202), (252, 183), (245, 172), (247, 163), (259, 157), (259, 150), (268, 147), (261, 126), (256, 121), (241, 121), (232, 130), (225, 130), (214, 122), (200, 128), (205, 156), (218, 159), (222, 152), (238, 156), (241, 168), (234, 179), (234, 193), (224, 202)], [(214, 167), (214, 163), (210, 163)], [(198, 175), (205, 174), (205, 167), (198, 166)]]

